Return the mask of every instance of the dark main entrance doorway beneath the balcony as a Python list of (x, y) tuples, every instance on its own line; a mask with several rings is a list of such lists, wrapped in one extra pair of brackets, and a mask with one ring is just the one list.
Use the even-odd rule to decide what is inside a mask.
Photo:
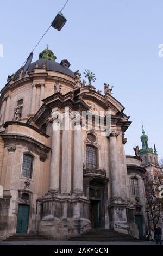
[(92, 228), (99, 228), (99, 201), (90, 202), (90, 221)]

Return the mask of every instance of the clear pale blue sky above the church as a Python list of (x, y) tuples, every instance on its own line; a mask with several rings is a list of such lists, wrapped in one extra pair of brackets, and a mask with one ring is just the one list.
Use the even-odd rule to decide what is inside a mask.
[[(6, 0), (1, 2), (0, 88), (8, 75), (24, 63), (36, 42), (66, 0)], [(132, 124), (126, 131), (126, 154), (139, 145), (142, 121), (159, 157), (162, 150), (163, 44), (162, 0), (69, 0), (62, 12), (67, 23), (60, 32), (51, 28), (34, 51), (33, 61), (49, 45), (57, 62), (68, 59), (72, 71), (90, 69), (93, 84), (104, 93), (104, 83), (114, 86), (113, 96), (125, 107)], [(0, 47), (0, 56), (1, 56)]]

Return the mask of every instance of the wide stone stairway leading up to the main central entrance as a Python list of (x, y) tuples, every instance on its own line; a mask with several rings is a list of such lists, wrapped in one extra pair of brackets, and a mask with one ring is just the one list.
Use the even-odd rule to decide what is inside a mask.
[(125, 241), (125, 242), (139, 242), (144, 239), (136, 239), (133, 236), (116, 232), (112, 229), (92, 229), (91, 231), (80, 235), (78, 237), (72, 237), (70, 241)]

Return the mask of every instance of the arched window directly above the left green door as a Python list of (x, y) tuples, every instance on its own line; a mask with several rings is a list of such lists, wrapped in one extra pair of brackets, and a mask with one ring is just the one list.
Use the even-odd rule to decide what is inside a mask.
[(33, 156), (30, 154), (23, 155), (22, 176), (32, 178), (33, 174)]

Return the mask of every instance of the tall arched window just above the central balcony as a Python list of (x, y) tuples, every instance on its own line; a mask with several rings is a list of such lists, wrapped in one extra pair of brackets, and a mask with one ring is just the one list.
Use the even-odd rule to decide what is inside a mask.
[(86, 146), (86, 168), (97, 168), (97, 150), (90, 145)]

